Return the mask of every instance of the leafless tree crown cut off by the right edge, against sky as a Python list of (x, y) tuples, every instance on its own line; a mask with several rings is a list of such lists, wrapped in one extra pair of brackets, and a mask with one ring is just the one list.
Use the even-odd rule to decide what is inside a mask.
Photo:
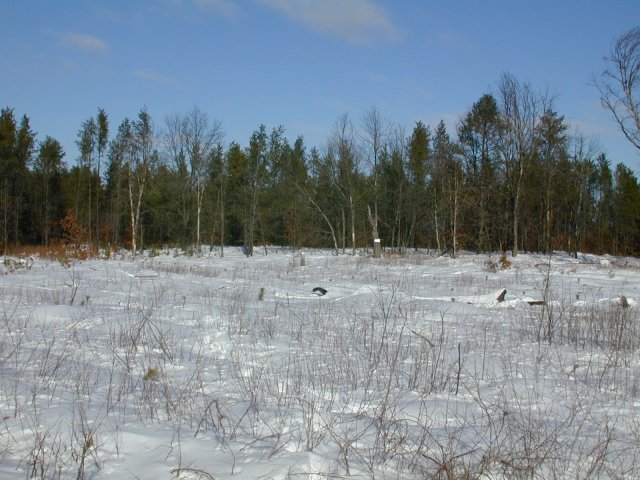
[(594, 82), (602, 105), (611, 111), (625, 137), (640, 150), (640, 27), (618, 38), (605, 61), (607, 67)]

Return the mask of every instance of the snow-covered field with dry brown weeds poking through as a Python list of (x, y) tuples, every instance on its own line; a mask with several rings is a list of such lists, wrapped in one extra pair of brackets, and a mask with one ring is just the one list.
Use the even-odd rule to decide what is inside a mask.
[(640, 477), (640, 261), (305, 259), (6, 259), (0, 477)]

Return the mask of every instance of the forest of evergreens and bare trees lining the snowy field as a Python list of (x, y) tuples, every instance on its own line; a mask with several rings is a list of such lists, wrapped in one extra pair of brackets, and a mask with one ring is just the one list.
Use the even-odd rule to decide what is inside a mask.
[[(322, 146), (259, 125), (225, 143), (198, 106), (78, 127), (78, 158), (0, 113), (3, 251), (242, 245), (640, 254), (640, 186), (555, 98), (509, 73), (448, 131), (410, 131), (376, 107), (340, 116)], [(626, 132), (625, 132), (626, 133)]]

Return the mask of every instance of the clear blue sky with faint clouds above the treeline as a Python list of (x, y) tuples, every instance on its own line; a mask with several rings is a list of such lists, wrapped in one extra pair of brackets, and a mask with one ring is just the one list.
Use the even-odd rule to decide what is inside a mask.
[(503, 72), (557, 95), (572, 128), (640, 171), (590, 85), (637, 0), (0, 0), (0, 104), (40, 140), (74, 140), (98, 108), (111, 131), (146, 106), (156, 127), (194, 106), (225, 142), (260, 124), (322, 147), (375, 106), (410, 132), (459, 118)]

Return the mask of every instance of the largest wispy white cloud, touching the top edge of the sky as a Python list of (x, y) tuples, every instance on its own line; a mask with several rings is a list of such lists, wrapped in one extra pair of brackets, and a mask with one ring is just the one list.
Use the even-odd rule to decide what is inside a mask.
[(398, 41), (402, 32), (372, 0), (258, 0), (312, 30), (349, 43)]

